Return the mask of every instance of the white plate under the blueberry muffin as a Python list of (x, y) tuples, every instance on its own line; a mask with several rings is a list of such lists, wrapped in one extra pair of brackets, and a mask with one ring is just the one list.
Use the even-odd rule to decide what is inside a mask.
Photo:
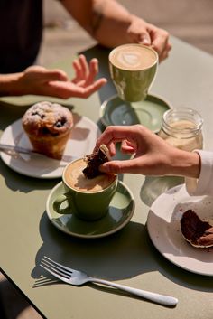
[[(64, 155), (72, 155), (79, 158), (92, 152), (100, 131), (97, 125), (88, 117), (80, 117), (77, 114), (73, 114), (73, 117), (74, 127), (71, 131)], [(21, 119), (5, 128), (0, 142), (32, 149), (32, 145), (23, 131)], [(64, 161), (39, 155), (20, 154), (14, 157), (4, 152), (0, 154), (5, 164), (14, 171), (37, 178), (58, 178), (61, 176), (63, 168), (68, 164)]]

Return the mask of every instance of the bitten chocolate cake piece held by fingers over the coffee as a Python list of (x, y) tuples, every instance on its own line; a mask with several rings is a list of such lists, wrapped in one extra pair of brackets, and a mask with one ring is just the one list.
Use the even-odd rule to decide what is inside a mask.
[(100, 145), (100, 147), (94, 153), (86, 155), (84, 160), (87, 163), (87, 167), (83, 170), (83, 174), (88, 178), (97, 177), (103, 174), (99, 171), (99, 166), (110, 160), (109, 150), (106, 145)]

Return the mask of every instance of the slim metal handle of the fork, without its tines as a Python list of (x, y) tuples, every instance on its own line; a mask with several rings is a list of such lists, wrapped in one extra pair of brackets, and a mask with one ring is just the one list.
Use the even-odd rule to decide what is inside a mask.
[(98, 284), (103, 284), (106, 286), (113, 286), (117, 289), (124, 290), (127, 293), (143, 297), (144, 299), (151, 300), (157, 304), (161, 304), (161, 305), (177, 305), (178, 304), (178, 299), (173, 297), (173, 296), (160, 295), (160, 294), (152, 293), (152, 292), (146, 291), (146, 290), (135, 289), (135, 288), (132, 288), (130, 286), (116, 284), (116, 283), (113, 283), (111, 281), (107, 281), (104, 279), (90, 277), (89, 281), (94, 282), (94, 283), (98, 283)]

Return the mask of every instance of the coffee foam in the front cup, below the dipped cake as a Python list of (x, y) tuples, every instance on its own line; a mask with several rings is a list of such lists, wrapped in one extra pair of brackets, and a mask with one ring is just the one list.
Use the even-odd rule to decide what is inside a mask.
[(116, 179), (115, 174), (101, 174), (95, 178), (88, 179), (82, 172), (86, 166), (87, 164), (83, 159), (79, 159), (67, 166), (64, 180), (69, 187), (79, 192), (100, 192)]

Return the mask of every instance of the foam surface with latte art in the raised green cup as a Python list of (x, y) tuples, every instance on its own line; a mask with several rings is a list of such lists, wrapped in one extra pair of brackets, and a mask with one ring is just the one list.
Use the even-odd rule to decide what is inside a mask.
[(122, 70), (144, 70), (157, 61), (156, 53), (140, 44), (120, 45), (109, 54), (109, 61)]

